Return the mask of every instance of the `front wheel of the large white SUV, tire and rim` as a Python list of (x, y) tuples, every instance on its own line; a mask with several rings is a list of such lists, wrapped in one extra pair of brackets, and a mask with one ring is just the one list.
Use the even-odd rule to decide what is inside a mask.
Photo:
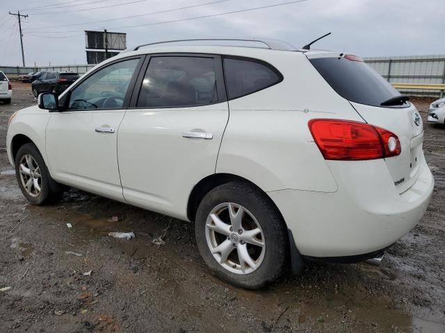
[[(35, 144), (24, 144), (19, 148), (15, 156), (15, 176), (23, 195), (33, 205), (54, 203), (65, 189), (49, 176), (47, 166)], [(28, 183), (30, 185), (26, 187)]]

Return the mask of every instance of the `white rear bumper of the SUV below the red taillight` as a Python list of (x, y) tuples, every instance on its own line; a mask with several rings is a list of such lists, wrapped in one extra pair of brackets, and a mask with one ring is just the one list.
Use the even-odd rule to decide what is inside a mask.
[(337, 180), (334, 193), (268, 192), (303, 256), (375, 253), (410, 231), (428, 207), (434, 179), (423, 155), (419, 178), (402, 194), (384, 160), (327, 163)]

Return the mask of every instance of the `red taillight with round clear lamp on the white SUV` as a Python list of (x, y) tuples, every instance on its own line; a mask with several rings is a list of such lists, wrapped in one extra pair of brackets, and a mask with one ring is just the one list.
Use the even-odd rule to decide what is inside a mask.
[(397, 135), (369, 123), (312, 119), (309, 130), (325, 160), (375, 160), (401, 153)]

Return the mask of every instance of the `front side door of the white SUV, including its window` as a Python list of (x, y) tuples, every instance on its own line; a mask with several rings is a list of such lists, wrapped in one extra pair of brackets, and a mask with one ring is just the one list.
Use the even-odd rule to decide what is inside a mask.
[(51, 113), (47, 155), (54, 179), (124, 200), (117, 135), (140, 61), (120, 60), (98, 69), (70, 90), (67, 110)]

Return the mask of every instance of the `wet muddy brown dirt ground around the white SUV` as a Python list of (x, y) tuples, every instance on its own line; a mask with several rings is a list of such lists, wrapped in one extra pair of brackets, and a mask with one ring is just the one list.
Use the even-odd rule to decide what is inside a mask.
[[(0, 289), (11, 287), (0, 291), (0, 332), (445, 332), (444, 126), (424, 123), (430, 207), (380, 267), (309, 263), (245, 291), (212, 275), (191, 223), (75, 189), (56, 205), (29, 205), (10, 172), (6, 129), (35, 101), (29, 85), (13, 92), (11, 105), (0, 103)], [(430, 101), (414, 103), (426, 120)], [(152, 243), (163, 235), (164, 245)]]

